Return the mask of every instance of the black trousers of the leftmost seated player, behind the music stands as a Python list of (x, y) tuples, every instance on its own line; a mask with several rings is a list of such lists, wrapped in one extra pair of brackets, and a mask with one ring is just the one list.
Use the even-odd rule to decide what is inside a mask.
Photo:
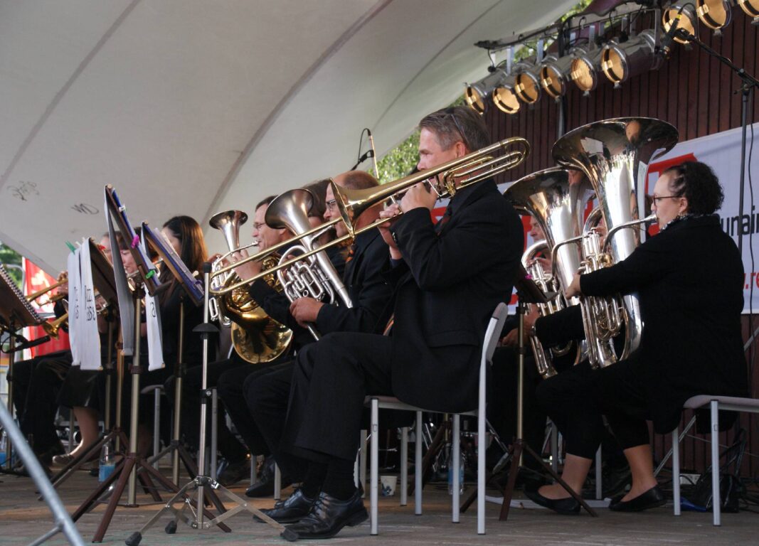
[(58, 351), (14, 362), (11, 381), (19, 425), (31, 438), (35, 453), (44, 453), (58, 442), (55, 413), (58, 394), (71, 369), (71, 352)]

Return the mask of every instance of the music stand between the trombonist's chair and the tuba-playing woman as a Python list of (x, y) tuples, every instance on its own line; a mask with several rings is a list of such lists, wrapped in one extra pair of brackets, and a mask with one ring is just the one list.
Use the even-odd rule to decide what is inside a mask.
[(529, 446), (527, 442), (525, 442), (522, 439), (522, 419), (523, 419), (523, 393), (524, 393), (524, 356), (527, 354), (527, 347), (524, 345), (524, 314), (526, 312), (528, 303), (548, 303), (551, 297), (553, 297), (554, 294), (546, 294), (543, 293), (542, 290), (540, 290), (540, 287), (535, 284), (535, 281), (533, 281), (530, 276), (528, 275), (527, 271), (524, 270), (524, 267), (521, 265), (519, 266), (519, 269), (517, 271), (517, 277), (514, 281), (514, 287), (517, 291), (517, 295), (519, 297), (519, 303), (517, 306), (517, 314), (519, 317), (519, 327), (518, 327), (518, 340), (519, 340), (519, 347), (518, 347), (518, 390), (517, 390), (517, 438), (515, 438), (514, 442), (512, 443), (512, 447), (509, 449), (509, 457), (512, 462), (511, 469), (509, 470), (509, 481), (506, 482), (506, 486), (503, 490), (503, 504), (501, 506), (501, 513), (499, 515), (500, 520), (505, 520), (509, 517), (509, 508), (512, 504), (512, 497), (514, 496), (514, 486), (516, 484), (517, 474), (519, 472), (519, 469), (521, 467), (521, 460), (524, 455), (524, 453), (527, 453), (530, 457), (532, 457), (537, 463), (540, 464), (540, 466), (543, 467), (543, 470), (548, 472), (553, 479), (556, 480), (556, 482), (559, 483), (559, 485), (562, 486), (562, 488), (565, 489), (565, 491), (568, 492), (568, 494), (572, 495), (572, 497), (577, 500), (580, 503), (580, 506), (583, 507), (585, 510), (587, 510), (587, 513), (591, 514), (593, 517), (597, 517), (598, 514), (596, 513), (593, 508), (588, 505), (585, 500), (581, 497), (581, 495), (575, 493), (574, 490), (572, 490), (571, 487), (567, 485), (567, 483), (562, 480), (561, 476), (557, 474), (553, 468), (550, 467), (550, 465), (547, 465), (543, 461), (543, 457), (540, 457), (535, 451)]

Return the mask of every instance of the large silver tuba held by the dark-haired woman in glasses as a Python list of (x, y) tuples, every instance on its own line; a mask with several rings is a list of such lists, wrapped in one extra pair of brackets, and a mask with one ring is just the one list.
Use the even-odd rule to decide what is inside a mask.
[[(596, 193), (600, 214), (606, 222), (606, 241), (597, 230), (575, 240), (583, 253), (581, 272), (595, 271), (622, 261), (638, 246), (635, 225), (648, 221), (632, 218), (631, 199), (647, 171), (648, 163), (668, 152), (678, 141), (675, 127), (654, 118), (614, 118), (597, 121), (566, 133), (553, 145), (553, 158), (560, 165), (583, 171)], [(555, 247), (553, 252), (556, 253)], [(625, 325), (625, 344), (620, 359), (638, 348), (643, 331), (637, 293), (616, 298), (586, 299), (583, 322), (589, 358), (594, 367), (616, 362), (611, 339)]]

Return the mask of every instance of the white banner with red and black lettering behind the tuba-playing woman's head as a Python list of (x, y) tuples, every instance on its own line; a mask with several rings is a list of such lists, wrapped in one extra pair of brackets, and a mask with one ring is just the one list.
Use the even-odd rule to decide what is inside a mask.
[[(757, 162), (757, 158), (753, 158), (751, 161), (748, 157), (748, 150), (751, 147), (751, 130), (751, 126), (749, 126), (746, 145), (743, 218), (740, 218), (739, 212), (742, 132), (740, 127), (679, 143), (669, 153), (649, 165), (646, 187), (644, 188), (646, 193), (653, 192), (653, 184), (659, 179), (659, 174), (662, 171), (685, 161), (706, 163), (713, 169), (714, 174), (720, 179), (720, 184), (722, 184), (725, 193), (722, 209), (717, 212), (720, 215), (723, 231), (735, 240), (735, 244), (738, 244), (739, 234), (741, 231), (743, 232), (744, 313), (748, 313), (750, 309), (754, 312), (759, 310), (759, 275), (757, 275), (757, 264), (751, 263), (752, 249), (754, 256), (759, 259), (759, 237), (754, 237), (754, 234), (759, 233), (759, 212), (756, 211), (756, 205), (751, 202), (751, 189), (749, 187), (751, 179), (759, 180), (759, 167), (757, 167), (759, 162)], [(759, 132), (759, 123), (754, 124), (753, 130), (755, 133)], [(756, 149), (754, 153), (759, 153), (759, 149)], [(749, 170), (751, 177), (749, 177)], [(757, 200), (759, 200), (759, 195), (757, 195)]]

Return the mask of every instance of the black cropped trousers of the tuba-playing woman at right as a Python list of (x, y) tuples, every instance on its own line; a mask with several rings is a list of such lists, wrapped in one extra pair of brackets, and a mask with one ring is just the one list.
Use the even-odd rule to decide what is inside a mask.
[(637, 355), (603, 369), (582, 362), (537, 388), (537, 401), (567, 443), (567, 453), (592, 459), (603, 439), (603, 416), (623, 450), (648, 444), (647, 400)]

